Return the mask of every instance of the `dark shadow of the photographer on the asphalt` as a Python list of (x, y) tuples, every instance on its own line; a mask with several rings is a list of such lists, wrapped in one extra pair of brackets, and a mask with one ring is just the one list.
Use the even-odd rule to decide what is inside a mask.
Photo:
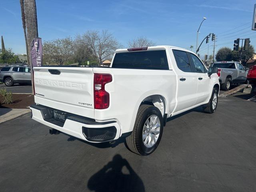
[(101, 170), (88, 180), (87, 187), (94, 192), (144, 192), (142, 179), (128, 161), (116, 154)]

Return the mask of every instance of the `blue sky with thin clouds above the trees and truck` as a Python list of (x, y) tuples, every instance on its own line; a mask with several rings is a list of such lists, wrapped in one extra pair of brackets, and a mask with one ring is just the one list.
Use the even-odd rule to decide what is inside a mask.
[[(251, 38), (256, 45), (256, 31), (250, 29), (253, 0), (36, 0), (38, 34), (42, 40), (82, 34), (87, 30), (108, 29), (127, 48), (130, 39), (146, 36), (157, 45), (196, 47), (196, 31), (201, 26), (199, 41), (214, 32), (216, 49), (233, 47), (236, 38)], [(5, 46), (15, 53), (26, 53), (19, 0), (0, 1), (0, 35)], [(212, 54), (212, 42), (209, 54)], [(200, 55), (207, 54), (202, 44)]]

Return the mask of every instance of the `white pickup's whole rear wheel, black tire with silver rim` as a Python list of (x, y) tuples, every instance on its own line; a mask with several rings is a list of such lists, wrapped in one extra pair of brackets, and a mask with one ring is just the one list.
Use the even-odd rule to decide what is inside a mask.
[(163, 117), (158, 108), (140, 106), (132, 134), (126, 137), (127, 147), (139, 155), (151, 154), (160, 143), (163, 127)]

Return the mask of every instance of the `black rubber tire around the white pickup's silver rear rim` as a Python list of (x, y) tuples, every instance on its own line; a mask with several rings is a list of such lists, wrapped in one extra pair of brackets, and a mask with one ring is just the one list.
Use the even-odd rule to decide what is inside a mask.
[[(142, 132), (144, 124), (152, 115), (156, 115), (160, 120), (160, 133), (158, 139), (156, 140), (156, 143), (152, 147), (146, 147), (142, 139)], [(164, 121), (160, 110), (152, 105), (142, 105), (138, 110), (132, 134), (126, 137), (126, 146), (129, 148), (130, 151), (136, 154), (144, 156), (149, 155), (154, 152), (154, 150), (156, 150), (156, 148), (158, 147), (158, 144), (160, 143), (163, 134), (163, 128)]]

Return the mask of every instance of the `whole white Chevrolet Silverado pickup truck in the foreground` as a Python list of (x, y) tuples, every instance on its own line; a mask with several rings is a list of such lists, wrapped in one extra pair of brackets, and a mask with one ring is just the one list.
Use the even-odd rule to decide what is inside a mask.
[(106, 67), (34, 67), (32, 119), (88, 142), (125, 136), (140, 155), (158, 146), (167, 118), (216, 110), (217, 68), (173, 46), (118, 49)]

